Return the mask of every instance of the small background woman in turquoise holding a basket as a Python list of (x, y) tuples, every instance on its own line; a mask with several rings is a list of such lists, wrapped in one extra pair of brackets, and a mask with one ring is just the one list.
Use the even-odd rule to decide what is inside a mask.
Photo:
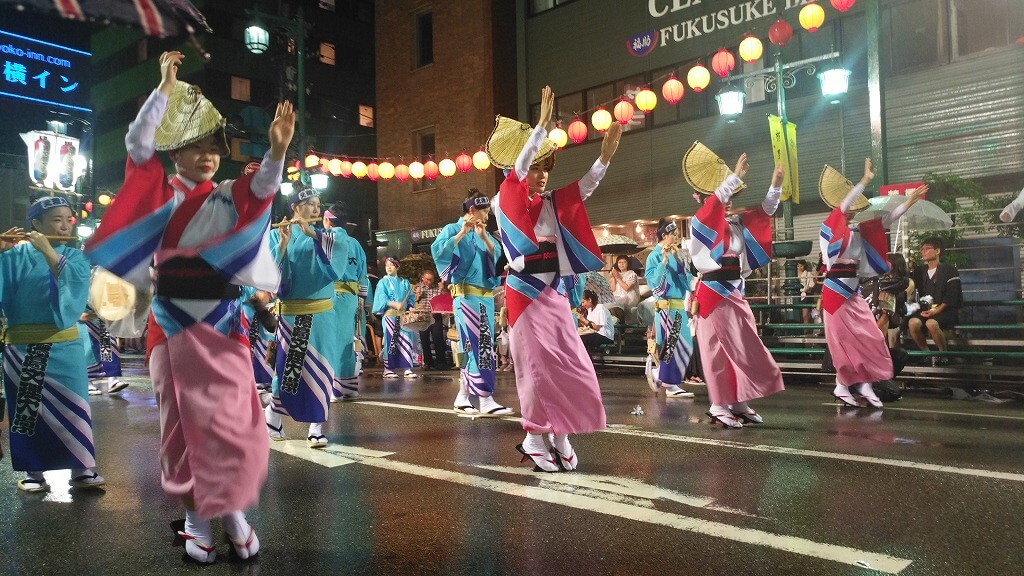
[(404, 376), (417, 378), (413, 372), (413, 333), (401, 327), (401, 313), (416, 305), (413, 289), (409, 281), (398, 278), (400, 262), (388, 256), (384, 260), (387, 274), (377, 283), (374, 290), (374, 314), (381, 316), (384, 342), (381, 356), (384, 358), (384, 377), (397, 378), (396, 370), (406, 369)]

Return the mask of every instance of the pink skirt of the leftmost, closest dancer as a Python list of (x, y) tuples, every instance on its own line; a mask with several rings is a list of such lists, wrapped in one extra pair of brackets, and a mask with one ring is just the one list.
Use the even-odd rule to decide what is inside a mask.
[(150, 357), (160, 409), (161, 484), (210, 519), (254, 506), (269, 443), (249, 349), (204, 323)]

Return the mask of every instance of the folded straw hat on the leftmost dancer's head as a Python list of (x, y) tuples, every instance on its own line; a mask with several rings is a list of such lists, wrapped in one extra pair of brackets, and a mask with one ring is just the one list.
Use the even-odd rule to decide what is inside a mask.
[(224, 126), (227, 120), (217, 112), (213, 102), (207, 99), (198, 86), (180, 80), (171, 89), (164, 120), (157, 127), (154, 142), (160, 152), (169, 152), (198, 142), (211, 135), (217, 135), (221, 154), (227, 154), (227, 137)]

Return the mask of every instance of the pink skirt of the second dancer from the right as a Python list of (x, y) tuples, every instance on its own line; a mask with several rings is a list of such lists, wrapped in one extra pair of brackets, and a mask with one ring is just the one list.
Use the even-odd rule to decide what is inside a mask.
[(785, 387), (775, 359), (758, 336), (751, 306), (735, 291), (708, 318), (697, 320), (697, 344), (715, 406), (757, 400)]

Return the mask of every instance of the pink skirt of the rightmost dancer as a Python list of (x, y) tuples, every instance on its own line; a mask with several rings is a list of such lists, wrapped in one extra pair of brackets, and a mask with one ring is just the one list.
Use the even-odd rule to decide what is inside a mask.
[(836, 366), (836, 381), (844, 386), (893, 377), (893, 363), (874, 315), (860, 294), (835, 313), (825, 313), (825, 342)]

